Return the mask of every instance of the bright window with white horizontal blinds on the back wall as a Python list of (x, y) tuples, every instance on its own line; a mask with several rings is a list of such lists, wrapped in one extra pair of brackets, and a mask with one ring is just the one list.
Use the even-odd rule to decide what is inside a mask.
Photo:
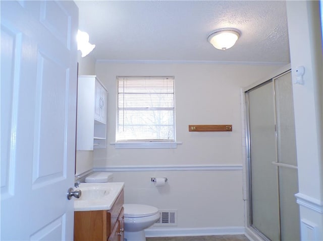
[(117, 77), (116, 142), (175, 142), (174, 77)]

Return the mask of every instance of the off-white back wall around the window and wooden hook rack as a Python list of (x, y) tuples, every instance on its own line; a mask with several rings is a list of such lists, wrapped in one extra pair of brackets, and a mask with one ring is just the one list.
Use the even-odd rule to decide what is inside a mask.
[[(174, 75), (176, 132), (182, 144), (176, 149), (115, 149), (108, 144), (94, 151), (95, 170), (113, 171), (115, 181), (125, 182), (127, 203), (178, 209), (178, 226), (165, 228), (185, 233), (185, 228), (243, 227), (240, 87), (279, 67), (97, 62), (96, 75), (109, 91), (108, 143), (115, 141), (116, 76)], [(233, 131), (189, 132), (189, 124), (232, 124)], [(169, 181), (156, 188), (151, 177)]]

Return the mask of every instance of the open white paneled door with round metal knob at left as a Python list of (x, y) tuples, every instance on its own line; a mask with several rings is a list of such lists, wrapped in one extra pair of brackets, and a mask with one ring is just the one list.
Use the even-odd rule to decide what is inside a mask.
[(1, 240), (73, 240), (78, 9), (0, 4)]

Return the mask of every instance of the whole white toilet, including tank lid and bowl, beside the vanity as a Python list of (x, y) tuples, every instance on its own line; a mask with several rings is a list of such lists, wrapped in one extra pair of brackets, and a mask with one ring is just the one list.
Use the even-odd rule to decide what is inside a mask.
[[(92, 173), (85, 178), (86, 183), (112, 182), (113, 174), (105, 172)], [(145, 230), (159, 218), (156, 207), (143, 204), (124, 204), (125, 213), (125, 241), (145, 241)]]

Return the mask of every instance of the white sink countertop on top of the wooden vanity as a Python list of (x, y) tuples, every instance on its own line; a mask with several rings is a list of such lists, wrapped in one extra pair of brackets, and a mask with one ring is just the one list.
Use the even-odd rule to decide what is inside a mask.
[[(77, 189), (83, 191), (84, 195), (74, 199), (74, 211), (110, 210), (124, 186), (124, 183), (81, 183)], [(88, 190), (95, 190), (94, 195), (99, 197), (89, 197)], [(101, 194), (102, 190), (104, 195)]]

